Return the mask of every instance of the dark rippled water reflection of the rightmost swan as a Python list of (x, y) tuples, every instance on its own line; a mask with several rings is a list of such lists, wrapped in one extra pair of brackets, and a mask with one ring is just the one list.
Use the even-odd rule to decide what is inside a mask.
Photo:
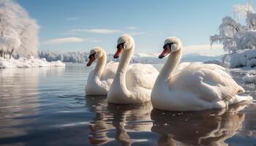
[[(159, 145), (228, 145), (225, 140), (242, 128), (246, 104), (200, 112), (152, 110), (152, 131), (160, 135)], [(165, 114), (163, 114), (165, 113)]]

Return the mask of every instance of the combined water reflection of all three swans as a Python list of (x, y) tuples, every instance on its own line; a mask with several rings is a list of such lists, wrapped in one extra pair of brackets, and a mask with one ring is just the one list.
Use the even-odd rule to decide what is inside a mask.
[(151, 103), (107, 104), (105, 97), (86, 97), (96, 117), (89, 125), (94, 145), (227, 145), (242, 128), (246, 104), (200, 112), (152, 110)]

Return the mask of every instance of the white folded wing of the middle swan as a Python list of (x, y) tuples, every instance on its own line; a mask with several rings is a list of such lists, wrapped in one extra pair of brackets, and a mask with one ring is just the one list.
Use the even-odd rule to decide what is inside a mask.
[(127, 88), (152, 89), (159, 72), (150, 64), (131, 64), (126, 74)]

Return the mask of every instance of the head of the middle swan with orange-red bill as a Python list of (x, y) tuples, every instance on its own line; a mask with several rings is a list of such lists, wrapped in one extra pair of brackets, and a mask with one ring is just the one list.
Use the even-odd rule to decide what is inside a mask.
[(127, 51), (134, 46), (135, 46), (135, 42), (132, 36), (130, 36), (129, 34), (121, 35), (121, 37), (119, 37), (117, 40), (117, 46), (116, 46), (117, 50), (113, 57), (114, 58), (120, 57), (122, 52)]

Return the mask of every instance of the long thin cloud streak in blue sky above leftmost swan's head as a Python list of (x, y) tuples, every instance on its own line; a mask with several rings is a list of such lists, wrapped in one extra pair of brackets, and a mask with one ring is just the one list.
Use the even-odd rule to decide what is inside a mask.
[(113, 34), (121, 32), (119, 29), (105, 29), (105, 28), (98, 28), (98, 29), (72, 29), (72, 33), (94, 33), (94, 34)]

